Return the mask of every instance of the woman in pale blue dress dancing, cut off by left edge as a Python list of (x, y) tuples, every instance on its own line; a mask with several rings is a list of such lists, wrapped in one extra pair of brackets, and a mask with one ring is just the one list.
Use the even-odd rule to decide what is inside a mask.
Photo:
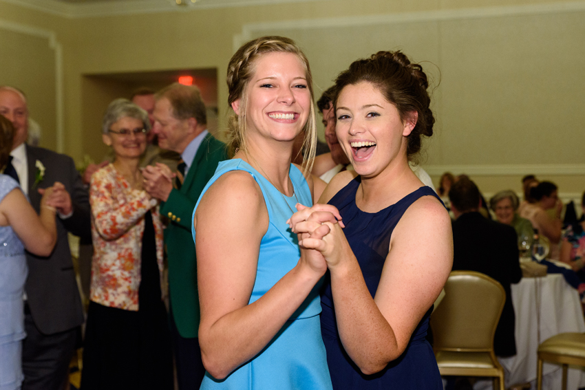
[(24, 250), (49, 256), (57, 240), (53, 188), (41, 198), (41, 215), (28, 203), (19, 183), (10, 176), (14, 127), (0, 115), (0, 389), (21, 388), (24, 330), (23, 291), (28, 268)]

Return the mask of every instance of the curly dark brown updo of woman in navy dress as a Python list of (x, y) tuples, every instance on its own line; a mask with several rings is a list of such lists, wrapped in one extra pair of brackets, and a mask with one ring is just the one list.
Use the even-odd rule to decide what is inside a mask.
[(427, 93), (429, 82), (423, 67), (400, 52), (377, 52), (370, 58), (354, 61), (349, 69), (341, 72), (335, 80), (337, 94), (333, 105), (337, 109), (337, 99), (341, 90), (348, 85), (372, 83), (388, 102), (391, 102), (404, 122), (412, 111), (418, 113), (416, 126), (407, 136), (407, 158), (414, 160), (421, 151), (422, 136), (433, 135), (435, 118), (429, 108), (431, 98)]

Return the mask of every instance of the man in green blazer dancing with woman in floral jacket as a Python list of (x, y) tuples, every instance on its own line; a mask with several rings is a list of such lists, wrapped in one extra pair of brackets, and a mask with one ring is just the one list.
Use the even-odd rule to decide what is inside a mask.
[[(226, 160), (225, 145), (206, 130), (205, 105), (197, 87), (169, 85), (156, 94), (153, 131), (162, 149), (180, 153), (178, 172), (147, 166), (145, 189), (160, 199), (160, 215), (169, 218), (164, 243), (169, 259), (171, 332), (180, 390), (199, 389), (205, 369), (198, 341), (199, 299), (193, 208), (217, 164)], [(174, 185), (173, 185), (174, 184)]]

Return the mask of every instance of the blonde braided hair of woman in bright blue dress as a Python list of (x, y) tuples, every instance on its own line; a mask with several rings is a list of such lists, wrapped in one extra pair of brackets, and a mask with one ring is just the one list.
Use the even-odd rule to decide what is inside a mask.
[[(228, 121), (228, 148), (230, 155), (234, 155), (237, 149), (247, 152), (246, 148), (246, 113), (248, 111), (248, 85), (256, 70), (258, 58), (267, 53), (292, 53), (299, 58), (305, 68), (305, 77), (313, 100), (312, 76), (307, 57), (292, 39), (284, 36), (262, 36), (245, 43), (235, 52), (228, 64), (226, 83), (228, 85), (228, 106), (236, 100), (240, 100), (240, 115), (232, 111)], [(303, 146), (303, 164), (305, 170), (310, 172), (313, 160), (315, 160), (315, 148), (317, 147), (317, 130), (315, 127), (315, 107), (310, 105), (308, 120), (303, 127), (305, 133)], [(294, 159), (295, 156), (293, 156)]]

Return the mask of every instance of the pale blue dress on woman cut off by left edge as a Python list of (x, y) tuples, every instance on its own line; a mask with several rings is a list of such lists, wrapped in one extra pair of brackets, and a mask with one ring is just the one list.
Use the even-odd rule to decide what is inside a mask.
[[(0, 202), (19, 184), (0, 175)], [(10, 226), (0, 226), (0, 390), (21, 388), (23, 290), (28, 268), (24, 246)]]

